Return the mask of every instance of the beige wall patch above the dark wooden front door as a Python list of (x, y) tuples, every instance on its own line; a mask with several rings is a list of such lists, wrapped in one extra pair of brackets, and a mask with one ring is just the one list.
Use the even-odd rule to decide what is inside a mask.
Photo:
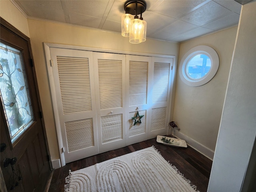
[(0, 0), (0, 16), (29, 37), (27, 18), (9, 0)]

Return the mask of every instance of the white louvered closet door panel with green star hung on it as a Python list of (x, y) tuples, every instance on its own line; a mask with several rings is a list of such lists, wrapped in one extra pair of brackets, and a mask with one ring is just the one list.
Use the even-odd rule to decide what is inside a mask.
[[(151, 57), (126, 55), (126, 145), (148, 139)], [(134, 125), (137, 111), (143, 117)], [(138, 120), (138, 118), (136, 119)]]

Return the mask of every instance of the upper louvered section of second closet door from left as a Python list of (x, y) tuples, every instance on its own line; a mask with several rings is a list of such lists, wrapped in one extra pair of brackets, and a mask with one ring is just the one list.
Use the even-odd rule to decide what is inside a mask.
[(122, 60), (98, 59), (100, 110), (122, 108)]

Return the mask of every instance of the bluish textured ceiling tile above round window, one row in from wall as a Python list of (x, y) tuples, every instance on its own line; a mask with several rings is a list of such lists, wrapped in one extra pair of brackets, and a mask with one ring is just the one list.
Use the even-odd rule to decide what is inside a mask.
[(214, 1), (210, 1), (207, 4), (182, 17), (181, 20), (200, 26), (218, 17), (225, 16), (230, 13), (230, 10), (224, 8), (223, 6), (219, 5)]

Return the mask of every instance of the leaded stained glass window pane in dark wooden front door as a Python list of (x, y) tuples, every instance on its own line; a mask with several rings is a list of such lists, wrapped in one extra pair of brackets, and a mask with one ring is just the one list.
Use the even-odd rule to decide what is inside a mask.
[(12, 143), (34, 121), (22, 53), (0, 43), (0, 96)]

